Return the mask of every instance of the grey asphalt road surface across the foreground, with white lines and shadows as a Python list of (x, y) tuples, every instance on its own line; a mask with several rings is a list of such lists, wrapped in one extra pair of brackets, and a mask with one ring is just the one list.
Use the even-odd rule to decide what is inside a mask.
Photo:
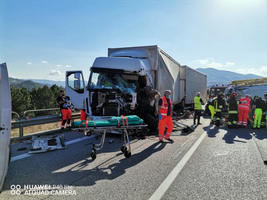
[[(101, 140), (95, 135), (65, 132), (67, 148), (45, 153), (12, 144), (0, 199), (267, 199), (267, 131), (227, 130), (209, 121), (182, 120), (195, 131), (174, 131), (173, 143), (132, 140), (130, 158), (120, 151), (120, 135), (108, 135), (95, 160), (91, 143)], [(17, 151), (22, 146), (28, 149)], [(35, 185), (50, 188), (27, 189)]]

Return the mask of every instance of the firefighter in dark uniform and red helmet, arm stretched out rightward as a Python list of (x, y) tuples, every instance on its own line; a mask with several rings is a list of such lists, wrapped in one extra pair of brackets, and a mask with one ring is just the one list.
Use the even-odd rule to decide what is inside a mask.
[[(227, 100), (228, 103), (228, 113), (229, 113), (229, 119), (228, 119), (228, 126), (227, 128), (238, 129), (237, 122), (238, 122), (238, 104), (246, 103), (246, 101), (238, 101), (237, 93), (232, 92), (230, 98)], [(233, 124), (233, 126), (232, 126)]]

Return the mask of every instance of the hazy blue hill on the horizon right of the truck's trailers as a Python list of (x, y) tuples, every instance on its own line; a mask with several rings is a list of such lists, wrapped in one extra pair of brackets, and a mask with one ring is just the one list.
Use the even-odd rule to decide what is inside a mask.
[(264, 78), (255, 74), (242, 74), (214, 68), (197, 68), (197, 71), (207, 74), (207, 87), (212, 85), (229, 84), (233, 80)]

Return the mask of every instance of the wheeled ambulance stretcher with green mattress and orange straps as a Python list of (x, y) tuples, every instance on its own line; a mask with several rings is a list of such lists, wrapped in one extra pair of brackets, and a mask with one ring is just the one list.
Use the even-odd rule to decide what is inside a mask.
[[(89, 117), (91, 120), (86, 121), (77, 121), (72, 123), (72, 130), (76, 132), (84, 131), (84, 134), (87, 136), (91, 136), (91, 131), (98, 132), (102, 134), (101, 143), (93, 144), (91, 158), (96, 159), (96, 151), (100, 150), (104, 146), (106, 130), (115, 130), (120, 131), (122, 135), (124, 135), (124, 145), (120, 148), (120, 150), (124, 153), (126, 158), (131, 156), (131, 147), (128, 136), (128, 128), (131, 128), (138, 132), (147, 132), (147, 125), (144, 123), (143, 119), (137, 117), (136, 115), (130, 116), (121, 116), (121, 117)], [(96, 146), (100, 146), (100, 148), (96, 148)], [(128, 148), (127, 148), (127, 147)]]

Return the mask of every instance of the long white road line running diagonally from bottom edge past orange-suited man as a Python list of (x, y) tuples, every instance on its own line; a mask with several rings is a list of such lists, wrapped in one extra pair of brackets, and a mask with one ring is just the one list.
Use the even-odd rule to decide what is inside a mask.
[[(205, 125), (205, 124), (204, 124)], [(184, 157), (180, 160), (180, 162), (174, 167), (174, 169), (170, 172), (170, 174), (165, 178), (165, 180), (161, 183), (161, 185), (156, 189), (156, 191), (152, 194), (152, 196), (149, 198), (149, 200), (160, 200), (164, 193), (167, 191), (167, 189), (170, 187), (174, 179), (178, 176), (180, 171), (183, 169), (183, 166), (188, 162), (192, 154), (195, 152), (199, 144), (202, 142), (202, 140), (205, 138), (207, 133), (210, 131), (210, 128), (213, 125), (210, 124), (210, 126), (202, 133), (202, 135), (197, 139), (195, 144), (188, 150), (188, 152), (184, 155)]]

